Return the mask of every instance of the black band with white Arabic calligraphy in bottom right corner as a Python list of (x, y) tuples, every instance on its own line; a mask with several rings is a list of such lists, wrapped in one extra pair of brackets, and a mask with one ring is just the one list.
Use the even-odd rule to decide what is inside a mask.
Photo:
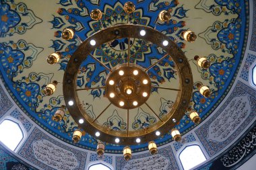
[(256, 147), (256, 127), (251, 130), (232, 150), (220, 159), (225, 167), (232, 167), (254, 151)]

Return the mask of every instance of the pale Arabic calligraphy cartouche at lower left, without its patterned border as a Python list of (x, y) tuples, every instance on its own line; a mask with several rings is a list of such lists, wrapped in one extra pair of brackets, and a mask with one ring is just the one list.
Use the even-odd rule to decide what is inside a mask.
[(32, 145), (34, 157), (50, 167), (71, 170), (79, 165), (73, 153), (66, 151), (48, 140), (38, 140), (33, 142)]

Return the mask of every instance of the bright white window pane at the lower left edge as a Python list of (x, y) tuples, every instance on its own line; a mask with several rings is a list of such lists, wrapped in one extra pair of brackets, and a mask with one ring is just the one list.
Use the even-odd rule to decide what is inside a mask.
[(0, 124), (0, 141), (11, 151), (17, 148), (18, 144), (24, 138), (20, 125), (12, 120), (3, 120)]

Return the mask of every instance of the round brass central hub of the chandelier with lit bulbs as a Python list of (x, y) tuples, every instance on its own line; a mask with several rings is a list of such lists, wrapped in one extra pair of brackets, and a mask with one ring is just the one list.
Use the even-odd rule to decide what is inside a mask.
[(118, 108), (137, 108), (148, 100), (150, 93), (150, 77), (137, 65), (121, 65), (106, 79), (106, 97)]

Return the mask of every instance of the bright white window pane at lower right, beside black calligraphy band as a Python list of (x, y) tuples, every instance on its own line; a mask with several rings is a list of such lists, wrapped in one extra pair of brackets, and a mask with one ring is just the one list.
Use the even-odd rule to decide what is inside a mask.
[(200, 146), (194, 144), (186, 146), (179, 155), (184, 170), (191, 169), (206, 160)]

